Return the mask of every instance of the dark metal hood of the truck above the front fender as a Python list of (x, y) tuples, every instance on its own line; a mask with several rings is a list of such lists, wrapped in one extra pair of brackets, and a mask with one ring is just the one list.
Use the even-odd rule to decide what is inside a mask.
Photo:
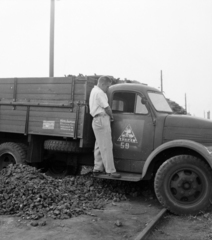
[(163, 142), (176, 139), (212, 146), (212, 121), (188, 115), (168, 115), (164, 124)]

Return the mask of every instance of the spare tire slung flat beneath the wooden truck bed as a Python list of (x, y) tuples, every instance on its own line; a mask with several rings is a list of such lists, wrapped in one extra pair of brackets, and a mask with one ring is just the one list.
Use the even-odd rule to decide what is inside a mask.
[(78, 142), (67, 142), (60, 140), (46, 140), (44, 142), (44, 149), (49, 151), (59, 151), (59, 152), (81, 152), (82, 149), (79, 148)]

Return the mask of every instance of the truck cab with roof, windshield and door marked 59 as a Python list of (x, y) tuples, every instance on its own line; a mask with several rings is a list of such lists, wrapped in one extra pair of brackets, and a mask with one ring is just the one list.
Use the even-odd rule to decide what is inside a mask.
[(155, 144), (162, 143), (160, 123), (172, 110), (158, 90), (142, 84), (112, 86), (109, 101), (114, 116), (112, 139), (116, 167), (119, 171), (142, 173)]

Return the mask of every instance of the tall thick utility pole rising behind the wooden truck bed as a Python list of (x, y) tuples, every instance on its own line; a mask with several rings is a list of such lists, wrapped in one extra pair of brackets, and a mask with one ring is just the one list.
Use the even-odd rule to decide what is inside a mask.
[(51, 0), (51, 7), (50, 7), (49, 77), (54, 77), (54, 13), (55, 13), (55, 0)]

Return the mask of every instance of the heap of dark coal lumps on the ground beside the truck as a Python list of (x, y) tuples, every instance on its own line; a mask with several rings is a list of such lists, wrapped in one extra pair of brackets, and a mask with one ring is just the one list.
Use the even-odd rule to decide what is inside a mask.
[(111, 201), (141, 195), (140, 187), (132, 184), (89, 174), (54, 179), (31, 166), (9, 165), (0, 172), (0, 215), (33, 220), (71, 218), (103, 209)]

